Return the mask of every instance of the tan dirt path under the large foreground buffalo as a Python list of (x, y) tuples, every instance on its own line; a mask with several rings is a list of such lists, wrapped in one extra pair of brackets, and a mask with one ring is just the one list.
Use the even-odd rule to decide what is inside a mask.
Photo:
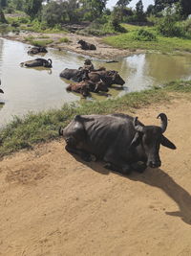
[(161, 169), (125, 177), (76, 161), (63, 141), (13, 154), (0, 167), (0, 255), (191, 255), (191, 102), (139, 109), (177, 151)]

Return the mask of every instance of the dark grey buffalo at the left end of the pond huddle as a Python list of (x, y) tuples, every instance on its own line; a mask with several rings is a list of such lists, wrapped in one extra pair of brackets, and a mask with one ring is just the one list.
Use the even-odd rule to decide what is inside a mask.
[(65, 68), (60, 73), (60, 77), (67, 80), (82, 81), (84, 78), (86, 78), (86, 74), (88, 72), (89, 72), (88, 70), (85, 70), (83, 68), (79, 68), (79, 69)]

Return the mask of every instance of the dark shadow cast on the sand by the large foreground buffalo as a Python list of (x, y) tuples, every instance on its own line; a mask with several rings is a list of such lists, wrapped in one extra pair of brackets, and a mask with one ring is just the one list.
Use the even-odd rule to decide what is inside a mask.
[[(101, 162), (84, 162), (78, 156), (74, 155), (76, 161), (79, 161), (87, 165), (92, 170), (102, 175), (109, 175), (110, 172), (103, 167)], [(120, 173), (116, 173), (121, 175)], [(124, 176), (124, 175), (123, 175)], [(191, 224), (191, 196), (184, 190), (175, 180), (167, 175), (161, 169), (147, 168), (143, 174), (132, 172), (131, 175), (125, 176), (134, 181), (140, 181), (147, 185), (157, 187), (161, 189), (169, 198), (172, 198), (179, 206), (180, 211), (177, 212), (165, 212), (170, 216), (180, 217), (182, 221), (187, 224)]]

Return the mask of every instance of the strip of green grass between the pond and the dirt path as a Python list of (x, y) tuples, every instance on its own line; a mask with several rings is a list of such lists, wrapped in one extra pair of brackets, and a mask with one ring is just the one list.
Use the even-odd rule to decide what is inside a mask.
[(191, 81), (172, 81), (164, 87), (154, 87), (141, 92), (133, 92), (117, 99), (104, 102), (85, 102), (81, 105), (63, 105), (54, 109), (29, 113), (24, 118), (14, 117), (13, 121), (0, 131), (0, 156), (21, 149), (31, 149), (33, 144), (58, 137), (58, 128), (67, 126), (77, 114), (105, 114), (139, 108), (144, 105), (169, 101), (168, 91), (190, 93)]

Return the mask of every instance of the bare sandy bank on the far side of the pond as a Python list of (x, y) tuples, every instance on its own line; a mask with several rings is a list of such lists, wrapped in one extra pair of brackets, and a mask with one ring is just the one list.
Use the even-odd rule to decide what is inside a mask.
[[(46, 40), (46, 39), (53, 39), (53, 43), (49, 44), (49, 47), (53, 47), (56, 49), (59, 49), (60, 51), (62, 50), (67, 50), (71, 51), (80, 55), (86, 55), (86, 56), (91, 56), (94, 58), (101, 58), (101, 59), (119, 59), (122, 57), (134, 55), (134, 54), (140, 54), (145, 52), (144, 50), (138, 50), (138, 49), (117, 49), (112, 46), (109, 46), (107, 44), (104, 44), (102, 42), (101, 37), (97, 36), (84, 36), (84, 35), (75, 35), (75, 34), (39, 34), (39, 33), (20, 33), (19, 35), (11, 34), (11, 35), (4, 35), (2, 37), (5, 37), (7, 39), (11, 40), (17, 40), (25, 43), (29, 43), (26, 41), (25, 37), (29, 36), (34, 36), (36, 39), (40, 40), (39, 37), (42, 36), (48, 36), (49, 38), (41, 38), (41, 40)], [(67, 43), (60, 43), (59, 39), (62, 37), (67, 37), (69, 38), (70, 42)], [(93, 43), (96, 45), (96, 50), (95, 51), (84, 51), (79, 48), (79, 44), (77, 44), (78, 40), (83, 39), (89, 43)]]

